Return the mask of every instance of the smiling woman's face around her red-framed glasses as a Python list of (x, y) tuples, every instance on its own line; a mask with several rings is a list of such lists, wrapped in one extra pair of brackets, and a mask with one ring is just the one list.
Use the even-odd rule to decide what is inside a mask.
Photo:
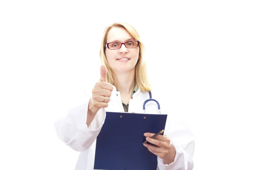
[[(107, 43), (127, 42), (128, 40), (134, 39), (124, 28), (113, 27), (108, 32)], [(131, 43), (128, 43), (127, 45), (131, 45)], [(105, 50), (109, 65), (111, 65), (111, 68), (115, 71), (120, 73), (128, 73), (135, 70), (135, 65), (139, 58), (139, 52), (139, 46), (136, 48), (126, 48), (124, 44), (122, 44), (121, 48), (116, 50), (108, 48)]]

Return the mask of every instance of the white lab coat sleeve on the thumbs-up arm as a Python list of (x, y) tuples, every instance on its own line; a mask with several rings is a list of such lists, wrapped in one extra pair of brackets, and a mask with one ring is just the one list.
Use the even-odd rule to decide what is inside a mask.
[(87, 127), (87, 109), (91, 95), (81, 93), (73, 100), (63, 118), (55, 122), (58, 138), (73, 150), (82, 152), (87, 150), (98, 136), (105, 121), (106, 112), (101, 108), (90, 126)]

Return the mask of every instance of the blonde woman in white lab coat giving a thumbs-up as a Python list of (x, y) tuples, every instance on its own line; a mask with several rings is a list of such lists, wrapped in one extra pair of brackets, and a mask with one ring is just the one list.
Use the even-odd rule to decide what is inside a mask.
[[(105, 29), (99, 81), (89, 94), (76, 99), (63, 119), (55, 122), (58, 138), (80, 152), (75, 170), (93, 170), (96, 137), (104, 124), (106, 111), (143, 112), (143, 102), (151, 91), (144, 57), (144, 46), (134, 27), (128, 23), (113, 23)], [(152, 96), (161, 105), (157, 93), (152, 91)], [(163, 108), (161, 105), (161, 111)], [(157, 113), (157, 103), (147, 102), (145, 110)], [(185, 124), (173, 120), (170, 113), (167, 119), (165, 134), (151, 139), (148, 137), (154, 133), (145, 133), (148, 143), (144, 146), (157, 155), (158, 170), (192, 170), (194, 136)]]

